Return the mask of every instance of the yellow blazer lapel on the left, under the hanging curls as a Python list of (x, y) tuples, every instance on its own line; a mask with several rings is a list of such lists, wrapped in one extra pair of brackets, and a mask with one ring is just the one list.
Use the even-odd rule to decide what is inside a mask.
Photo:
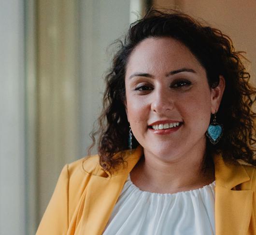
[(138, 147), (133, 154), (127, 154), (127, 166), (118, 170), (118, 174), (105, 173), (101, 170), (92, 175), (87, 185), (83, 215), (76, 229), (77, 234), (101, 235), (111, 216), (114, 205), (128, 178), (128, 173), (136, 165), (142, 155)]

